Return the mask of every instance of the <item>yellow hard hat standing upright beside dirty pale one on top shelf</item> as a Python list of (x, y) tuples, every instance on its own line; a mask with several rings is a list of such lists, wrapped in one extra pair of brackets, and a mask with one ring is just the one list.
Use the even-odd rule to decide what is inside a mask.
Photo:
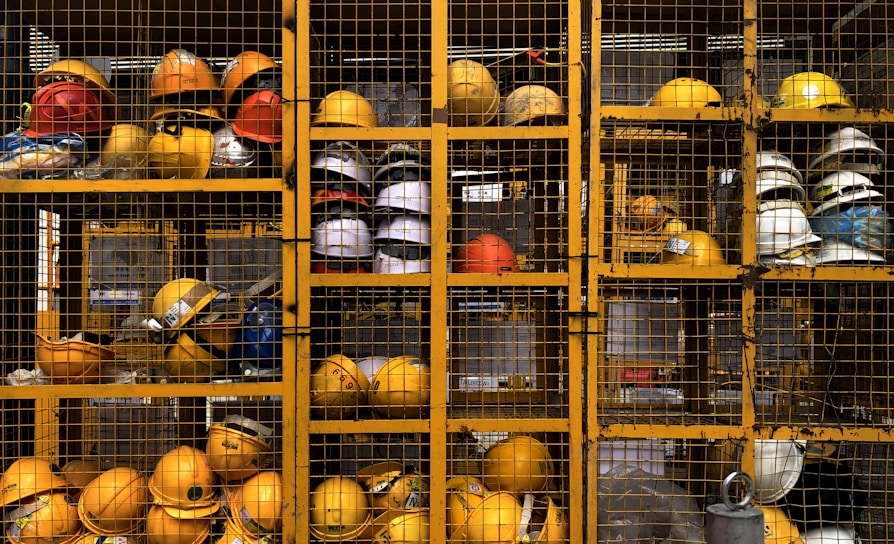
[(480, 62), (460, 59), (447, 67), (447, 109), (450, 125), (489, 124), (500, 111), (500, 92), (490, 71)]

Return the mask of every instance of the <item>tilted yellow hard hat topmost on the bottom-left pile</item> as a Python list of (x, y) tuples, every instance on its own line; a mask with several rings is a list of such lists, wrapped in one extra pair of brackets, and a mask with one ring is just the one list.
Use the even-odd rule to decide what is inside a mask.
[(211, 469), (226, 481), (244, 480), (258, 473), (261, 455), (271, 450), (273, 430), (238, 414), (228, 415), (208, 429), (205, 455)]

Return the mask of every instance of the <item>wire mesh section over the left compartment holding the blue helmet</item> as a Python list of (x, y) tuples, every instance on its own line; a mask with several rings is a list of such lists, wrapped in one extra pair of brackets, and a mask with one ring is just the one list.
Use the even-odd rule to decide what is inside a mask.
[[(261, 362), (258, 346), (272, 346), (273, 336), (259, 338), (264, 325), (255, 319), (281, 285), (281, 234), (270, 227), (281, 213), (276, 195), (122, 193), (108, 205), (72, 199), (81, 200), (47, 194), (27, 204), (35, 225), (19, 236), (26, 257), (9, 267), (34, 286), (30, 325), (9, 329), (16, 334), (10, 349), (32, 362), (23, 370), (53, 383), (114, 383), (118, 371), (207, 382), (279, 366), (266, 346), (260, 351), (269, 360)], [(215, 228), (234, 221), (234, 229)], [(263, 226), (264, 236), (238, 225)], [(281, 327), (274, 314), (266, 329), (276, 319)]]

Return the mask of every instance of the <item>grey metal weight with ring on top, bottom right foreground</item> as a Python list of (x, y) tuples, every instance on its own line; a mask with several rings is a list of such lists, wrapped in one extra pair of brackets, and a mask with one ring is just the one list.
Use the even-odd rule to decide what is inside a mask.
[[(739, 502), (730, 497), (730, 486), (736, 480), (745, 484), (745, 496)], [(733, 472), (723, 480), (723, 503), (707, 508), (705, 541), (707, 544), (763, 544), (764, 513), (750, 506), (754, 498), (754, 482), (744, 472)]]

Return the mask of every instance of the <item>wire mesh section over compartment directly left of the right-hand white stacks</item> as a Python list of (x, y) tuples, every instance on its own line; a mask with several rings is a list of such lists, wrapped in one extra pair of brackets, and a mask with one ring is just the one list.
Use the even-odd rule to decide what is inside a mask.
[[(729, 162), (739, 160), (736, 127), (613, 122), (603, 123), (603, 131), (604, 261), (725, 264), (714, 228), (714, 195), (707, 188), (729, 175)], [(690, 232), (677, 236), (684, 231)], [(665, 251), (670, 238), (680, 242)]]

